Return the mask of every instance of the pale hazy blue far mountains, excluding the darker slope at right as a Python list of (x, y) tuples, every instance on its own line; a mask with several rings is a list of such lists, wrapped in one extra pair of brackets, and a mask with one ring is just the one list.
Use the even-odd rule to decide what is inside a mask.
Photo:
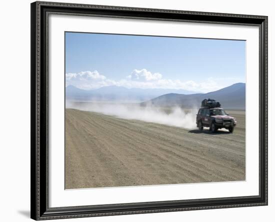
[(84, 90), (72, 85), (65, 89), (65, 96), (68, 100), (127, 100), (145, 101), (167, 93), (192, 94), (195, 91), (184, 89), (162, 89), (162, 88), (125, 88), (122, 86), (103, 86), (101, 88)]

